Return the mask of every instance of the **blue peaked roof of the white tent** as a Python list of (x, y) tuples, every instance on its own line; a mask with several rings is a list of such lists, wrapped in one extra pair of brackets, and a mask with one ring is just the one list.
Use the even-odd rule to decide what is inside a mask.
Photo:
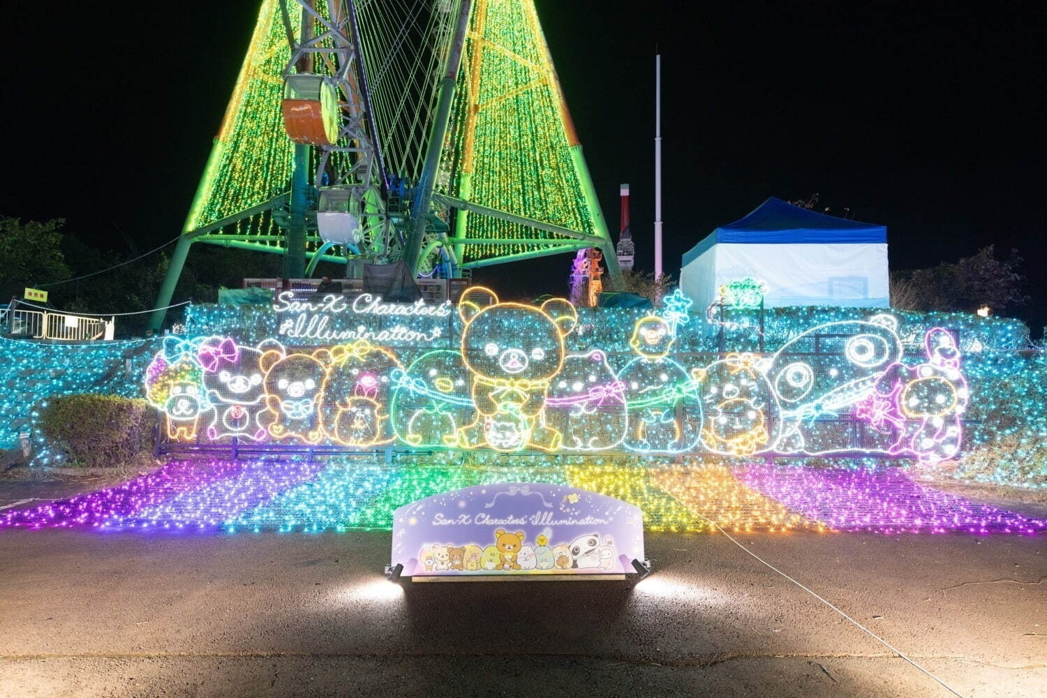
[(684, 254), (684, 266), (716, 243), (839, 245), (886, 242), (885, 225), (826, 216), (771, 197), (745, 218), (713, 230)]

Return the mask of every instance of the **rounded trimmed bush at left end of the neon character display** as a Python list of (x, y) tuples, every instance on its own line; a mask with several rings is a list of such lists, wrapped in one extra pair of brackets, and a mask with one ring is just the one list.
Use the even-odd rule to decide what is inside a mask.
[(117, 396), (53, 398), (40, 413), (40, 430), (66, 457), (88, 468), (124, 465), (153, 447), (156, 413), (144, 400)]

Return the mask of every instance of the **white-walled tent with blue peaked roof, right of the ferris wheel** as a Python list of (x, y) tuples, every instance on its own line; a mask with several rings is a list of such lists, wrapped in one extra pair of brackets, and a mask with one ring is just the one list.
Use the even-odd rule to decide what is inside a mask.
[(747, 276), (765, 285), (765, 308), (888, 308), (887, 227), (772, 197), (684, 254), (680, 287), (705, 309), (720, 286)]

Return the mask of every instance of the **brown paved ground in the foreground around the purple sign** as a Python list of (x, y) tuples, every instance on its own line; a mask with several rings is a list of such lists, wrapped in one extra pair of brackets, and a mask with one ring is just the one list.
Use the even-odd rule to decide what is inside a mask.
[[(960, 694), (1047, 695), (1047, 537), (737, 540)], [(952, 695), (722, 535), (650, 534), (634, 588), (401, 590), (388, 548), (2, 531), (0, 695)]]

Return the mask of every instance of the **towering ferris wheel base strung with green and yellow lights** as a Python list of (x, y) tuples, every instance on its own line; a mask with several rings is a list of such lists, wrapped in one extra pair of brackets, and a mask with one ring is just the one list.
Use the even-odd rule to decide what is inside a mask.
[(620, 277), (533, 0), (262, 0), (157, 308), (195, 242), (287, 278), (592, 247)]

